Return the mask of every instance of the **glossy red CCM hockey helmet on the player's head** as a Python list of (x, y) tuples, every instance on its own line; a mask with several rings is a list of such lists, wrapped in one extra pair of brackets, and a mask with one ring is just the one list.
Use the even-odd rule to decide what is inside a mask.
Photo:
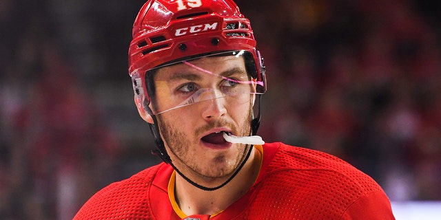
[(145, 73), (166, 63), (245, 50), (254, 61), (249, 73), (264, 82), (262, 58), (249, 20), (232, 0), (149, 0), (134, 21), (129, 74), (139, 107), (150, 103)]

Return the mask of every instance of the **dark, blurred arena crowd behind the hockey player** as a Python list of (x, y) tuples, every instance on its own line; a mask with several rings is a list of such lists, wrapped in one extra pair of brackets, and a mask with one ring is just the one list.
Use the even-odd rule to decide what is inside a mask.
[[(341, 157), (394, 202), (441, 200), (441, 2), (236, 2), (267, 65), (266, 142)], [(72, 219), (160, 162), (127, 74), (143, 3), (0, 0), (0, 219)]]

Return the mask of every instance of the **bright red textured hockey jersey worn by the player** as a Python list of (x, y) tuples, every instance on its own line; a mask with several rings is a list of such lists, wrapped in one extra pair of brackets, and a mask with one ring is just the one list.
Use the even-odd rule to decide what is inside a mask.
[[(78, 219), (181, 219), (167, 186), (173, 169), (161, 163), (96, 193)], [(189, 219), (394, 219), (376, 181), (337, 157), (271, 143), (249, 192), (216, 214)]]

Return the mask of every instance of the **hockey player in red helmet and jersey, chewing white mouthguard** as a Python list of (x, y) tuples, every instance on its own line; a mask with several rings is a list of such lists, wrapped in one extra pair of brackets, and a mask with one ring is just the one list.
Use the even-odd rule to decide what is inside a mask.
[(163, 162), (74, 219), (394, 219), (365, 173), (256, 135), (265, 66), (232, 0), (149, 0), (132, 34), (134, 101)]

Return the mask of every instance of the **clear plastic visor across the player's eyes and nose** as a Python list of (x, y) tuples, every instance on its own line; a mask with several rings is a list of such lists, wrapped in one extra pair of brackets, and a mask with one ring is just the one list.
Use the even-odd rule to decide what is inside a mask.
[(244, 54), (212, 54), (156, 67), (152, 112), (159, 115), (214, 101), (249, 107), (256, 94), (263, 94), (265, 82), (252, 77), (257, 75), (250, 73), (256, 71), (254, 59)]

